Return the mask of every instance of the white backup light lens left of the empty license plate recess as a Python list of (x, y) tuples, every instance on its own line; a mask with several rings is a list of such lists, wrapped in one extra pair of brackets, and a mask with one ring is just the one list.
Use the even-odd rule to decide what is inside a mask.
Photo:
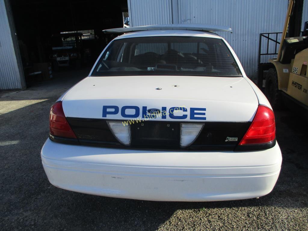
[(131, 144), (131, 126), (129, 124), (124, 126), (122, 121), (107, 121), (107, 124), (121, 144)]

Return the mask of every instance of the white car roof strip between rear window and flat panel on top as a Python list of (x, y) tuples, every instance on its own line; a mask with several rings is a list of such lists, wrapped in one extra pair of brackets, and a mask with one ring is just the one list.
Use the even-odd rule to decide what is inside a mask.
[(196, 30), (145, 30), (136, 31), (120, 35), (115, 39), (126, 39), (136, 37), (152, 37), (152, 36), (192, 36), (221, 39), (221, 36), (211, 32), (196, 31)]

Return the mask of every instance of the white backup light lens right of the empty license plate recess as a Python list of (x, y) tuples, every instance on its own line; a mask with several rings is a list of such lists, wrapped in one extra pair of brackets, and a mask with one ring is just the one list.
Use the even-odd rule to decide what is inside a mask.
[(204, 124), (184, 124), (183, 123), (180, 126), (181, 126), (180, 145), (181, 145), (181, 148), (185, 148), (196, 140)]

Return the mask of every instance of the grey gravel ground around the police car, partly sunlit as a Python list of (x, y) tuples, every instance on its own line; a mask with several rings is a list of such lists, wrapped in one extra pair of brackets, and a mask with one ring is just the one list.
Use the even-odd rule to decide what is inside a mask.
[(259, 199), (136, 201), (52, 186), (40, 159), (49, 108), (86, 74), (62, 72), (0, 94), (1, 230), (308, 230), (308, 125), (290, 111), (275, 112), (282, 171), (273, 192)]

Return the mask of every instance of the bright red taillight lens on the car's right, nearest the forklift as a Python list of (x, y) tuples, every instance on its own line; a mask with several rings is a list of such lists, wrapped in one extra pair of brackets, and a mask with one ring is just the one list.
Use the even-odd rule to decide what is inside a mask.
[(275, 132), (274, 112), (266, 106), (259, 105), (252, 124), (239, 145), (268, 143), (275, 139)]

